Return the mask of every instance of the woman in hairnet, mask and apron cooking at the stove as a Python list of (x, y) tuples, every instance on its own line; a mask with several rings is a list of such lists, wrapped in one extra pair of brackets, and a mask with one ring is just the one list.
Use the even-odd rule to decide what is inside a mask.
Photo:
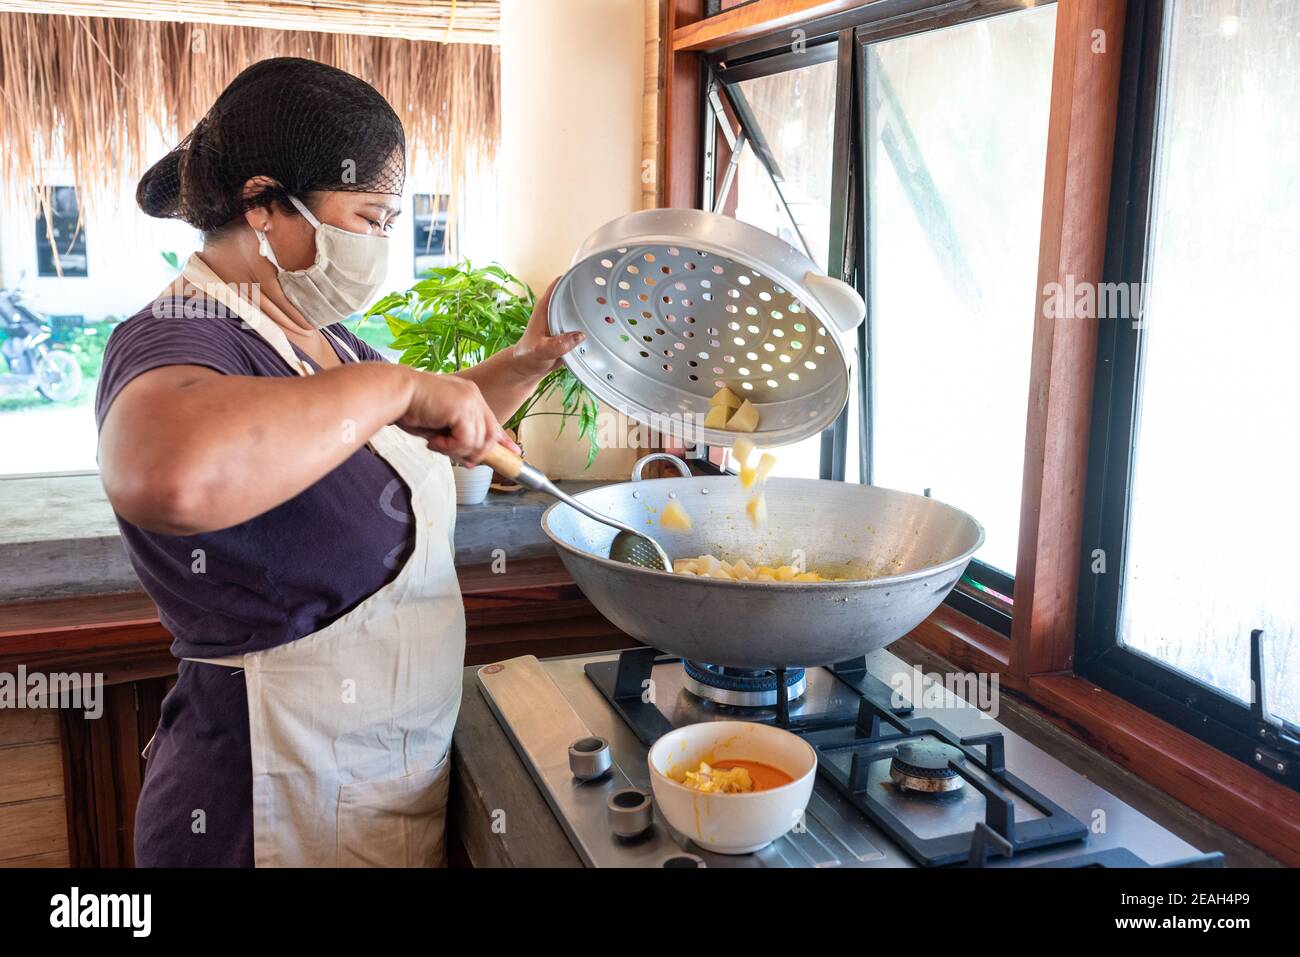
[(109, 338), (99, 462), (176, 641), (135, 823), (143, 866), (433, 865), (464, 611), (450, 459), (580, 337), (543, 296), (514, 350), (456, 376), (386, 363), (342, 320), (386, 273), (406, 140), (370, 86), (259, 62), (146, 173), (203, 230)]

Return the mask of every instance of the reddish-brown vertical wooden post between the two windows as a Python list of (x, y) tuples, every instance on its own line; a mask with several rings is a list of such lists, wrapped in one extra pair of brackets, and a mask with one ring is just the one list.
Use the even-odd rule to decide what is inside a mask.
[(1069, 671), (1097, 352), (1096, 319), (1052, 319), (1049, 283), (1101, 282), (1124, 0), (1061, 0), (1024, 434), (1011, 671)]

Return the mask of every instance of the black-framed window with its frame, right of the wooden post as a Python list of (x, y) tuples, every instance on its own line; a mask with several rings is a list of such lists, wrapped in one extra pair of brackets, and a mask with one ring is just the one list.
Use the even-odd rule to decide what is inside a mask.
[(1193, 0), (1134, 20), (1132, 169), (1109, 270), (1141, 285), (1127, 315), (1102, 316), (1080, 657), (1098, 684), (1262, 763), (1252, 631), (1273, 723), (1300, 733), (1300, 329), (1286, 281), (1300, 10)]

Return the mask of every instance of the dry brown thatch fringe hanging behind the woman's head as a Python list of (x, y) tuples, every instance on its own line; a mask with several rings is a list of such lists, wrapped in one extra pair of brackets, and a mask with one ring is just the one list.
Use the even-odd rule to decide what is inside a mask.
[(452, 195), (495, 156), (495, 46), (0, 12), (0, 178), (12, 199), (30, 200), (46, 164), (66, 161), (92, 208), (98, 191), (116, 194), (159, 159), (146, 155), (151, 125), (178, 142), (235, 74), (272, 56), (320, 60), (374, 85)]

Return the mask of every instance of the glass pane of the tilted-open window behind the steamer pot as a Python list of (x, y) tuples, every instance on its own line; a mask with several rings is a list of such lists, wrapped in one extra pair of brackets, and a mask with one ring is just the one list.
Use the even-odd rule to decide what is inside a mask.
[[(831, 250), (835, 69), (832, 60), (737, 83), (775, 160), (780, 190), (772, 185), (772, 178), (746, 143), (729, 202), (719, 209), (779, 235), (797, 250), (806, 243), (812, 260), (823, 269)], [(719, 170), (719, 183), (723, 172)], [(820, 436), (784, 446), (776, 455), (777, 465), (772, 475), (820, 477)]]

